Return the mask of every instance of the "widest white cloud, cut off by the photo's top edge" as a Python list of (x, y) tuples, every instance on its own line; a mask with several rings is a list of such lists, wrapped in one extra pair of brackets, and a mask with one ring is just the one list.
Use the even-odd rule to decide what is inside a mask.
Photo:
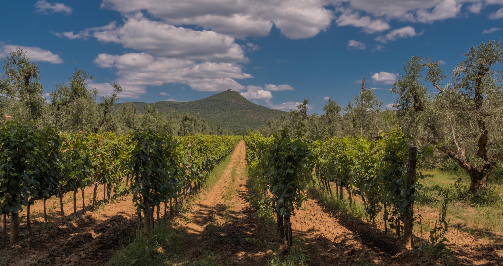
[(310, 38), (330, 25), (324, 0), (104, 0), (101, 7), (122, 14), (146, 11), (171, 25), (198, 25), (244, 39), (267, 36), (273, 24), (290, 39)]

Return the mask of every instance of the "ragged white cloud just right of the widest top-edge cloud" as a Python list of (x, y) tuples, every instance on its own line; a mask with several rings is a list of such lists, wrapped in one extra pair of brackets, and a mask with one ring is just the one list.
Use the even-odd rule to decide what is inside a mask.
[(358, 12), (339, 8), (338, 12), (342, 14), (337, 18), (337, 26), (354, 26), (357, 28), (362, 28), (365, 33), (376, 33), (389, 30), (391, 27), (389, 24), (380, 19), (372, 19), (371, 17), (364, 16), (361, 17)]

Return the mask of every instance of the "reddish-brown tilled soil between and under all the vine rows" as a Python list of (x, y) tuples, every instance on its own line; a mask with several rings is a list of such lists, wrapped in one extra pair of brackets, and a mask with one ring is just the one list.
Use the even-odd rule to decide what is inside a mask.
[[(192, 209), (175, 219), (181, 240), (181, 263), (211, 256), (218, 265), (264, 265), (274, 252), (285, 250), (275, 228), (257, 217), (248, 201), (244, 142), (231, 155), (220, 179), (203, 188)], [(92, 188), (85, 191), (92, 200)], [(102, 187), (98, 191), (103, 196)], [(43, 228), (42, 202), (32, 207), (35, 234), (6, 249), (13, 254), (9, 265), (105, 265), (120, 247), (120, 239), (134, 231), (134, 204), (130, 196), (121, 197), (103, 209), (82, 213), (77, 194), (78, 214), (74, 218), (71, 193), (64, 197), (66, 222), (60, 224), (59, 199), (47, 201), (53, 217), (52, 228)], [(86, 205), (90, 199), (86, 199)], [(80, 201), (80, 202), (79, 202)], [(56, 202), (54, 208), (53, 202)], [(69, 214), (69, 215), (68, 215)], [(23, 213), (22, 213), (23, 215)], [(70, 220), (71, 219), (71, 220)], [(411, 253), (395, 239), (380, 235), (362, 221), (352, 221), (326, 210), (314, 199), (304, 201), (292, 217), (294, 237), (309, 257), (308, 265), (438, 265), (422, 252)], [(21, 223), (21, 233), (26, 223)], [(456, 235), (452, 235), (456, 234)], [(460, 265), (503, 265), (503, 252), (466, 232), (451, 230), (451, 248)], [(210, 254), (214, 255), (210, 255)], [(285, 252), (283, 252), (285, 253)], [(499, 256), (499, 257), (497, 257)]]

